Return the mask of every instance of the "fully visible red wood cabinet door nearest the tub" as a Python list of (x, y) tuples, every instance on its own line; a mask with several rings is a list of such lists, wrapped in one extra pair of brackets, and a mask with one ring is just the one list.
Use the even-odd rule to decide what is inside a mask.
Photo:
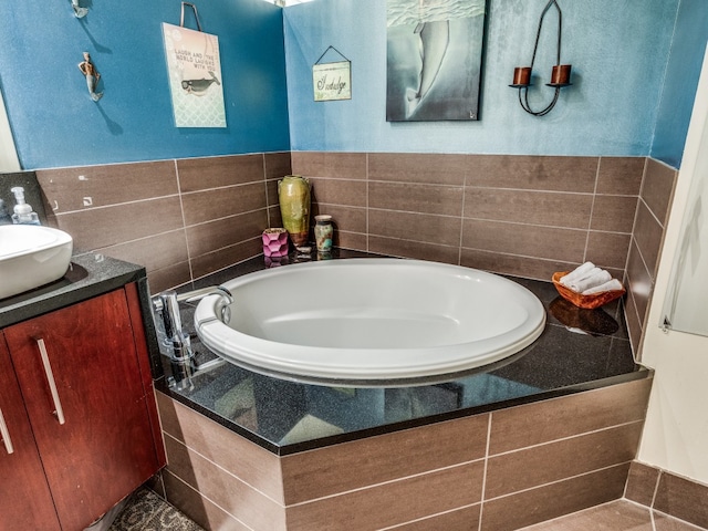
[(84, 529), (158, 469), (125, 291), (4, 334), (59, 520)]

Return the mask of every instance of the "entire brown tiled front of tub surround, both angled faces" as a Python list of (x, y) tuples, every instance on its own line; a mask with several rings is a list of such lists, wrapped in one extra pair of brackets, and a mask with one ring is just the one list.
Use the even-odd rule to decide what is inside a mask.
[(622, 497), (650, 385), (635, 381), (284, 457), (158, 393), (165, 490), (206, 529), (518, 529)]

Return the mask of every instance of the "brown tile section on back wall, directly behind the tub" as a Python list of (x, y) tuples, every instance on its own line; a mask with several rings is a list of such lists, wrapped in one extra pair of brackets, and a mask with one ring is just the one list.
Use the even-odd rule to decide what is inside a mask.
[(644, 157), (292, 153), (336, 244), (549, 280), (623, 278)]

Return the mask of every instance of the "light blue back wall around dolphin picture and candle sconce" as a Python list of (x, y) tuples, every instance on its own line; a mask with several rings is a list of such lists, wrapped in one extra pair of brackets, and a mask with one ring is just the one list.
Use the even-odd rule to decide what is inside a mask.
[[(690, 44), (701, 34), (705, 42), (706, 27), (698, 27), (708, 6), (705, 0), (560, 3), (561, 59), (573, 64), (574, 85), (563, 91), (549, 115), (538, 118), (521, 110), (517, 91), (508, 84), (514, 66), (530, 63), (545, 2), (488, 1), (481, 119), (476, 123), (386, 122), (385, 1), (317, 0), (285, 9), (293, 150), (649, 155), (679, 4), (681, 37), (676, 39), (673, 56), (689, 58), (684, 66), (691, 75), (685, 85), (671, 83), (666, 92), (679, 92), (690, 105), (702, 59), (699, 46)], [(544, 35), (555, 28), (553, 21), (546, 23)], [(312, 64), (329, 45), (352, 61), (351, 101), (313, 101)], [(553, 62), (543, 55), (549, 52), (555, 53), (554, 45), (540, 49), (540, 62), (549, 66), (540, 71), (537, 107), (550, 97), (550, 88), (543, 86)], [(675, 160), (686, 128), (684, 118), (662, 124), (663, 136), (675, 140), (662, 158)]]

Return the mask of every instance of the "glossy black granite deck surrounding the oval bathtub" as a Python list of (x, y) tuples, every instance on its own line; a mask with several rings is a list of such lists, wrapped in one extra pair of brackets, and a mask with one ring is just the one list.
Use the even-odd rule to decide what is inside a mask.
[[(335, 250), (332, 258), (354, 257), (381, 258), (345, 250)], [(316, 260), (316, 254), (305, 258), (310, 259)], [(302, 257), (291, 256), (289, 262), (302, 260)], [(183, 290), (220, 284), (266, 268), (263, 257), (254, 258), (185, 285)], [(537, 294), (546, 310), (559, 306), (559, 296), (551, 282), (512, 280)], [(156, 382), (158, 389), (279, 455), (649, 374), (634, 363), (618, 301), (603, 310), (585, 310), (583, 312), (590, 313), (582, 313), (577, 322), (573, 317), (570, 324), (564, 321), (568, 314), (573, 314), (572, 309), (561, 303), (564, 311), (549, 310), (542, 335), (510, 363), (465, 376), (455, 375), (431, 385), (395, 387), (337, 387), (291, 382), (219, 361), (199, 343), (194, 332), (195, 308), (196, 303), (180, 305), (183, 324), (190, 333), (196, 353), (194, 365), (197, 369), (190, 385), (177, 389), (170, 362), (162, 355), (166, 377)], [(594, 312), (602, 312), (602, 315)]]

